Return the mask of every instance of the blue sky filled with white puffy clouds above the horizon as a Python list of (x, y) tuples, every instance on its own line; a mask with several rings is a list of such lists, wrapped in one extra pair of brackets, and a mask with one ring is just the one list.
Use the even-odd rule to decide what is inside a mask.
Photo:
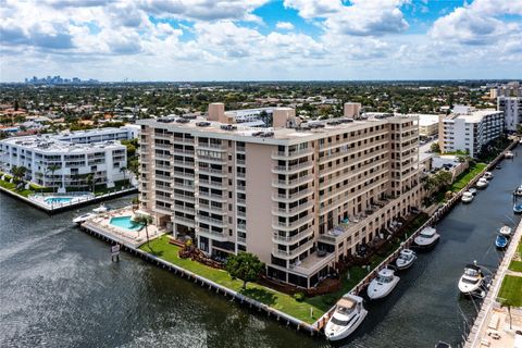
[(0, 0), (0, 82), (522, 78), (522, 0)]

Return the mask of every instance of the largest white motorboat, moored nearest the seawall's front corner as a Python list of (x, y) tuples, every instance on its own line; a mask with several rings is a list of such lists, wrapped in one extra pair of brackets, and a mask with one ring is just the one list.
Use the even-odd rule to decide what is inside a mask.
[(346, 294), (335, 306), (334, 314), (330, 318), (324, 328), (324, 334), (330, 340), (339, 340), (348, 337), (366, 318), (368, 311), (359, 296)]

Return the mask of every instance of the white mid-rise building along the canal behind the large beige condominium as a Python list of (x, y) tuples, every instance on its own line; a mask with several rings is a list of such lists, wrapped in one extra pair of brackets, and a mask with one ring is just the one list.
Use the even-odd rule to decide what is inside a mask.
[(464, 151), (476, 158), (484, 147), (504, 133), (504, 112), (456, 105), (440, 115), (439, 147), (443, 152)]

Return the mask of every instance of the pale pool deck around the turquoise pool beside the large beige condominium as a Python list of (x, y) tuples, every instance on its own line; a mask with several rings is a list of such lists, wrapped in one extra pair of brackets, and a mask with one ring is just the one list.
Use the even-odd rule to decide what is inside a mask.
[[(112, 217), (119, 216), (132, 216), (134, 211), (129, 207), (125, 207), (117, 210), (111, 210), (107, 213), (99, 214), (94, 216), (82, 224), (83, 227), (89, 228), (97, 233), (103, 234), (105, 236), (111, 237), (113, 240), (122, 244), (127, 245), (133, 248), (138, 248), (139, 246), (147, 243), (147, 231), (146, 228), (141, 228), (139, 231), (136, 229), (126, 229), (122, 227), (117, 227), (111, 225)], [(160, 231), (156, 225), (148, 225), (147, 229), (149, 232), (149, 240), (156, 239), (161, 235), (165, 234), (164, 231)]]

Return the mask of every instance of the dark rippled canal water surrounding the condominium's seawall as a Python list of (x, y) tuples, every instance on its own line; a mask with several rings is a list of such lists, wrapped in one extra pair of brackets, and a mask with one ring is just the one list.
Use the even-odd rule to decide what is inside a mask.
[[(457, 346), (478, 302), (459, 297), (469, 262), (495, 271), (495, 232), (514, 225), (510, 191), (522, 183), (522, 149), (489, 187), (437, 226), (420, 256), (345, 347)], [(130, 198), (110, 202), (127, 204)], [(92, 207), (91, 207), (92, 208)], [(88, 211), (90, 208), (82, 209)], [(0, 195), (0, 347), (328, 347), (227, 299), (123, 253), (54, 216)]]

